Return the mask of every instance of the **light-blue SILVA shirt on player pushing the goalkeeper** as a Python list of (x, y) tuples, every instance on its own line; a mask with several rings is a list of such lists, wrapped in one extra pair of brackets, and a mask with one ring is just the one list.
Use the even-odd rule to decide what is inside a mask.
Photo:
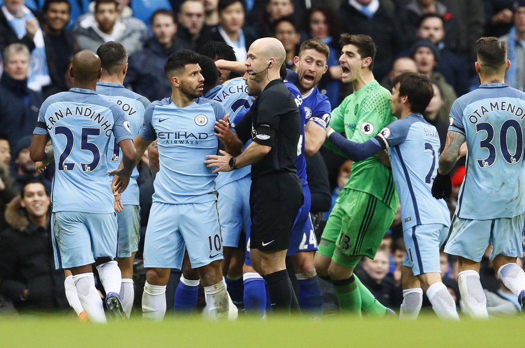
[[(440, 148), (436, 127), (421, 114), (412, 114), (393, 121), (377, 137), (387, 144), (401, 200), (403, 230), (429, 223), (450, 226), (447, 203), (432, 197)], [(373, 138), (371, 141), (378, 140)]]

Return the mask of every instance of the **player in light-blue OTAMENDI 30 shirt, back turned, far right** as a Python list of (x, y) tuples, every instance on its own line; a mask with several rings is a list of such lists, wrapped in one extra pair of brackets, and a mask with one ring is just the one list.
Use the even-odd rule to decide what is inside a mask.
[(474, 318), (488, 318), (479, 262), (489, 243), (494, 270), (525, 307), (525, 273), (516, 264), (523, 256), (525, 93), (503, 83), (510, 64), (504, 42), (495, 37), (478, 40), (475, 67), (481, 85), (458, 98), (450, 110), (447, 141), (432, 187), (435, 198), (450, 196), (450, 171), (466, 139), (467, 175), (445, 252), (458, 257), (459, 291)]

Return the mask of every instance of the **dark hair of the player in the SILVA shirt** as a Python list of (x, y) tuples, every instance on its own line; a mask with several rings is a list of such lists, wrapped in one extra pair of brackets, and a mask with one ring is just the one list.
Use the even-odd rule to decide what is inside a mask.
[(399, 90), (400, 96), (408, 97), (410, 110), (423, 114), (434, 96), (432, 81), (423, 74), (406, 71), (394, 77), (392, 86)]

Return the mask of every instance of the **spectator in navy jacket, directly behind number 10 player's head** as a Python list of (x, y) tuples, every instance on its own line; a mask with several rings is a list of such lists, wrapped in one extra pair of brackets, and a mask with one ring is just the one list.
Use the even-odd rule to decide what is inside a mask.
[(186, 47), (175, 35), (175, 15), (167, 9), (159, 9), (153, 13), (151, 32), (153, 37), (146, 40), (144, 49), (129, 57), (128, 74), (124, 84), (154, 101), (171, 95), (170, 81), (164, 73), (164, 63), (167, 57)]

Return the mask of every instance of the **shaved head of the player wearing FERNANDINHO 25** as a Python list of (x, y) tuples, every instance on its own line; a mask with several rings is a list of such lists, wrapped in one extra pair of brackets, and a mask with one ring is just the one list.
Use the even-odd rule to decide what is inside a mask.
[(81, 50), (73, 57), (69, 75), (74, 79), (75, 87), (95, 90), (101, 76), (99, 56), (89, 49)]

